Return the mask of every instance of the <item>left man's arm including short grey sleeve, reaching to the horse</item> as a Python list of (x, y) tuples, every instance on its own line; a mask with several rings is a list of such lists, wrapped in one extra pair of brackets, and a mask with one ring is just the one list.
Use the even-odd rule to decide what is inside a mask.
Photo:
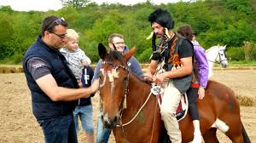
[(50, 66), (44, 60), (33, 57), (27, 61), (27, 69), (39, 88), (49, 96), (51, 100), (77, 100), (80, 97), (87, 97), (94, 93), (98, 84), (94, 83), (89, 89), (67, 89), (59, 87), (55, 78), (51, 75)]

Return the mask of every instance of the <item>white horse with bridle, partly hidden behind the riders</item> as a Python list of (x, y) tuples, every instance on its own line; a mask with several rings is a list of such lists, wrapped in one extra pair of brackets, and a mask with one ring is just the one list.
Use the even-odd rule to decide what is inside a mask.
[(213, 66), (214, 63), (219, 63), (222, 67), (226, 68), (228, 66), (228, 60), (225, 54), (225, 46), (212, 46), (210, 49), (207, 49), (207, 61), (209, 66), (209, 75), (208, 78), (212, 77), (213, 75)]

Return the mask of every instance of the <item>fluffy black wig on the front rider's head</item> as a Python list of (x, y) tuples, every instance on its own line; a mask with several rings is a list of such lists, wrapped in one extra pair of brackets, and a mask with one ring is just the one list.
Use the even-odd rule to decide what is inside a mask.
[(174, 27), (171, 14), (164, 9), (154, 10), (154, 12), (149, 15), (148, 21), (151, 22), (151, 25), (156, 22), (160, 24), (160, 26), (166, 27), (168, 30)]

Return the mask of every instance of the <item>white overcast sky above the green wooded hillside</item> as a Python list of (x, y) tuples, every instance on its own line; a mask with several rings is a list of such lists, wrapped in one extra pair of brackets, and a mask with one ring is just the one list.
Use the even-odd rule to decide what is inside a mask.
[[(147, 0), (90, 0), (91, 2), (101, 3), (122, 3), (125, 5), (136, 4), (136, 3), (145, 3)], [(180, 0), (151, 0), (152, 3), (175, 3)], [(189, 1), (189, 0), (182, 0)], [(0, 5), (10, 5), (12, 9), (17, 11), (29, 11), (29, 10), (38, 10), (38, 11), (47, 11), (49, 9), (61, 9), (60, 0), (0, 0)]]

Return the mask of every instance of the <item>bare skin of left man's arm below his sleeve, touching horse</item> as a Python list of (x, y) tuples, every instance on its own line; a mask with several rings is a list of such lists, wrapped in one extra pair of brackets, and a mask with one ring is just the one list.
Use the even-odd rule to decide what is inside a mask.
[(98, 89), (98, 83), (93, 83), (90, 88), (68, 89), (59, 87), (51, 74), (38, 78), (36, 83), (38, 83), (39, 88), (53, 101), (68, 101), (87, 98)]

